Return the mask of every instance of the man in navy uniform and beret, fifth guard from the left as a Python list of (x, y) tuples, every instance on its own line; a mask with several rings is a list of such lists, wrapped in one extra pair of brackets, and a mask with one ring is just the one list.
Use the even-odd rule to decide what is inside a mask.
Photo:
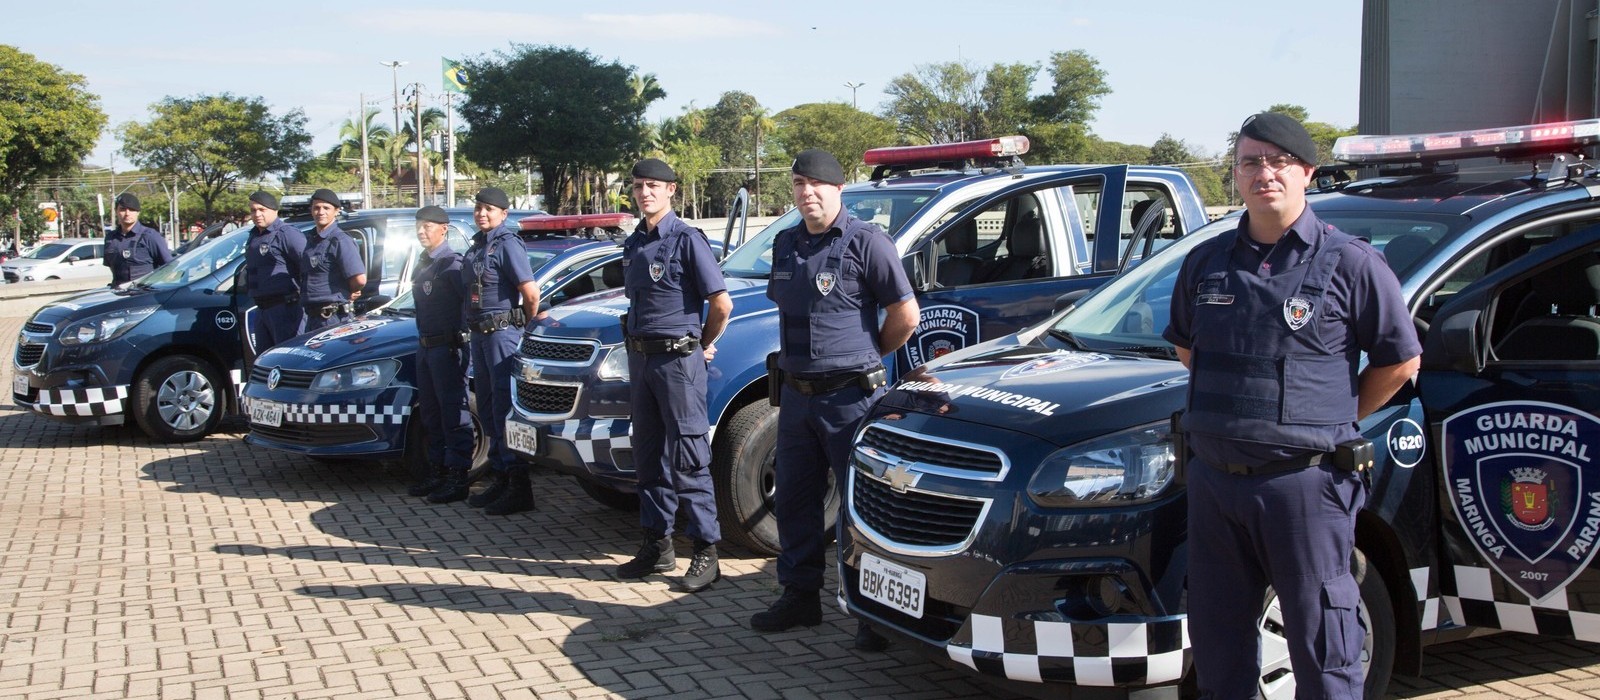
[(472, 387), (494, 470), (494, 483), (469, 497), (467, 505), (488, 515), (533, 508), (528, 468), (506, 447), (506, 414), (510, 412), (510, 374), (520, 328), (539, 313), (539, 284), (517, 229), (506, 225), (506, 209), (510, 209), (510, 198), (499, 187), (478, 192), (472, 208), (478, 232), (461, 268), (472, 329)]

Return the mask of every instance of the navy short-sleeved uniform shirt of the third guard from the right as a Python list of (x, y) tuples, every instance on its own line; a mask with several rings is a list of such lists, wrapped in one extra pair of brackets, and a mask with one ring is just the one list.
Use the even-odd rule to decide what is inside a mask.
[(650, 229), (640, 221), (622, 243), (622, 275), (629, 300), (629, 336), (699, 337), (701, 307), (728, 291), (706, 233), (669, 211)]

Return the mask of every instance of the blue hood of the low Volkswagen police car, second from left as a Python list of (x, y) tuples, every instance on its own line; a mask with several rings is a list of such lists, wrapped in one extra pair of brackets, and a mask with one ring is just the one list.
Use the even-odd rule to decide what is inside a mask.
[(261, 353), (256, 363), (283, 369), (323, 371), (360, 361), (398, 358), (416, 350), (414, 318), (368, 315), (283, 340)]

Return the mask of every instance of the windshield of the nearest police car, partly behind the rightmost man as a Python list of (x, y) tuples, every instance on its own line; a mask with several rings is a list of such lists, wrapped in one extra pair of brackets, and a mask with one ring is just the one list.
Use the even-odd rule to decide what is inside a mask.
[[(1453, 232), (1466, 225), (1461, 217), (1430, 214), (1333, 211), (1317, 216), (1339, 230), (1368, 238), (1384, 253), (1402, 286), (1424, 267), (1434, 246), (1453, 238)], [(1184, 256), (1202, 241), (1237, 225), (1238, 217), (1230, 216), (1182, 237), (1083, 297), (1051, 329), (1069, 334), (1085, 350), (1171, 348), (1162, 332), (1171, 318), (1173, 283)]]

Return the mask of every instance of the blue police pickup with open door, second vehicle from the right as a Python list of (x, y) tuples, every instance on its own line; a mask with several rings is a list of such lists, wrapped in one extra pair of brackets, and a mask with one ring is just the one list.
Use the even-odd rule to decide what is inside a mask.
[[(1050, 315), (1058, 296), (1098, 286), (1206, 222), (1182, 171), (1027, 166), (1026, 152), (1027, 139), (1011, 136), (866, 153), (872, 177), (845, 187), (843, 206), (894, 240), (922, 305), (920, 326), (890, 364), (914, 368), (1014, 332)], [(778, 409), (766, 385), (778, 312), (765, 292), (773, 238), (798, 222), (789, 211), (723, 261), (733, 315), (707, 377), (723, 537), (765, 553), (779, 548)], [(530, 326), (506, 427), (526, 459), (576, 475), (616, 507), (629, 507), (637, 487), (618, 324), (626, 310), (626, 296), (611, 292)]]

